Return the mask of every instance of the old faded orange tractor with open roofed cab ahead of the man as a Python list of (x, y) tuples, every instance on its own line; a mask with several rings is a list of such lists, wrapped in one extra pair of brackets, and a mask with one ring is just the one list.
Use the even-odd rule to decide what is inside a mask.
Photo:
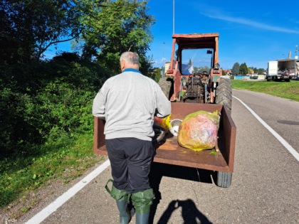
[[(174, 34), (159, 86), (172, 102), (222, 104), (231, 110), (231, 80), (221, 78), (219, 33)], [(197, 66), (197, 67), (196, 67)]]

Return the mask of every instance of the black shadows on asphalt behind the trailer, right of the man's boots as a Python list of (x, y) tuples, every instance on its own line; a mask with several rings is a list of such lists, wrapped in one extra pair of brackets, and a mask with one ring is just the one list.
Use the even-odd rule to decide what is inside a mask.
[[(150, 171), (150, 185), (154, 190), (155, 198), (151, 206), (150, 223), (153, 223), (154, 214), (156, 213), (159, 201), (162, 199), (161, 193), (159, 191), (159, 185), (163, 176), (169, 176), (172, 178), (182, 178), (190, 181), (199, 181), (203, 183), (213, 183), (213, 173), (213, 171), (195, 169), (186, 166), (175, 166), (153, 162)], [(169, 191), (171, 191), (170, 189), (171, 186), (169, 186)], [(179, 207), (182, 207), (182, 218), (184, 219), (184, 223), (211, 223), (209, 219), (206, 218), (206, 216), (196, 208), (196, 204), (194, 203), (194, 201), (192, 201), (192, 199), (187, 199), (185, 201), (174, 200), (171, 203), (169, 203), (167, 210), (165, 210), (161, 218), (159, 218), (158, 223), (168, 223), (169, 218), (171, 217), (174, 210), (176, 210)]]

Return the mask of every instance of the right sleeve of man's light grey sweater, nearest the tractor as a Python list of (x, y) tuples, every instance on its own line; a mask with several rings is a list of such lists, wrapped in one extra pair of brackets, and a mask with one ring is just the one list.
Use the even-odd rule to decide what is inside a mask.
[(157, 109), (156, 109), (156, 116), (159, 118), (167, 117), (172, 112), (172, 105), (171, 102), (167, 99), (162, 92), (161, 87), (156, 85), (156, 102), (157, 102)]

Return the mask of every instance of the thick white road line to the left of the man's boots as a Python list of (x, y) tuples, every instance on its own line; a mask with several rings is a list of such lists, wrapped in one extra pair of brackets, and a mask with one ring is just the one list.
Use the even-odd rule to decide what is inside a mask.
[(41, 223), (43, 220), (45, 220), (49, 215), (51, 215), (53, 212), (55, 212), (59, 207), (61, 207), (68, 199), (75, 196), (78, 191), (80, 191), (82, 188), (84, 188), (90, 181), (92, 181), (96, 176), (98, 176), (100, 173), (102, 173), (108, 166), (110, 166), (109, 159), (105, 161), (103, 164), (98, 166), (97, 169), (92, 171), (88, 176), (85, 176), (81, 181), (76, 183), (73, 187), (68, 189), (65, 193), (63, 193), (62, 196), (56, 198), (55, 201), (53, 201), (50, 205), (48, 205), (46, 208), (43, 208), (39, 213), (34, 215), (30, 220), (26, 222), (26, 224), (37, 224)]

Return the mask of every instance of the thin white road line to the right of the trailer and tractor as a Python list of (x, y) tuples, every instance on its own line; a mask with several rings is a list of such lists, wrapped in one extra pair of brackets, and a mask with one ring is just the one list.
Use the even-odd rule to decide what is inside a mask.
[(273, 134), (274, 137), (276, 137), (276, 139), (278, 139), (278, 141), (281, 144), (283, 144), (283, 146), (285, 146), (285, 149), (288, 149), (290, 154), (292, 154), (295, 157), (295, 159), (297, 159), (297, 161), (299, 161), (298, 152), (292, 146), (290, 146), (290, 144), (288, 144), (288, 142), (286, 142), (285, 139), (283, 139), (283, 137), (281, 137), (276, 131), (274, 131), (268, 124), (266, 124), (266, 122), (264, 122), (263, 119), (261, 119), (261, 117), (259, 117), (258, 114), (256, 114), (256, 112), (251, 110), (251, 108), (248, 107), (248, 105), (246, 105), (242, 100), (238, 99), (238, 97), (234, 97), (234, 98), (236, 98), (236, 100), (240, 101), (241, 104), (244, 105), (244, 107), (246, 107), (247, 110), (249, 110), (251, 112), (251, 114), (253, 114), (253, 116), (256, 117), (256, 119), (258, 119), (258, 121), (261, 122), (261, 124), (263, 124), (263, 126), (266, 127), (266, 129), (268, 129), (268, 131), (271, 132), (271, 134)]

